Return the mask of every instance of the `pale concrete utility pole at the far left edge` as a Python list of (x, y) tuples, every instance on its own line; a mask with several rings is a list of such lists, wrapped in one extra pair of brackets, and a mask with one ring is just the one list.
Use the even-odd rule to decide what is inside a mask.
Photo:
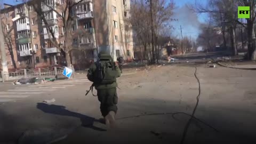
[(7, 67), (7, 61), (6, 61), (6, 52), (5, 52), (5, 46), (4, 46), (4, 34), (3, 34), (3, 28), (2, 28), (2, 20), (0, 20), (0, 53), (1, 53), (1, 62), (2, 62), (2, 81), (5, 80), (8, 81), (9, 79), (9, 72)]

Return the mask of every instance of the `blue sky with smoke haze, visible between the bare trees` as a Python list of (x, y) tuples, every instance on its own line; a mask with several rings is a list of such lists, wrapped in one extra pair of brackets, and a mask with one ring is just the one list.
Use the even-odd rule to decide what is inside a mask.
[[(19, 4), (22, 0), (3, 0), (7, 4)], [(17, 2), (18, 1), (18, 2)], [(166, 0), (170, 1), (170, 0)], [(178, 21), (171, 22), (174, 30), (172, 30), (172, 36), (181, 38), (180, 26), (182, 28), (182, 36), (190, 37), (191, 39), (196, 39), (199, 33), (199, 25), (207, 19), (206, 14), (195, 14), (191, 12), (186, 4), (201, 3), (203, 5), (207, 4), (210, 0), (173, 0), (175, 4), (173, 18), (178, 19)]]

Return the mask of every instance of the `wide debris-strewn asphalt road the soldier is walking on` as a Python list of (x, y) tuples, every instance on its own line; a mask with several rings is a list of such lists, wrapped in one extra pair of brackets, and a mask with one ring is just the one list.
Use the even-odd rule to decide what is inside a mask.
[[(86, 80), (51, 84), (39, 88), (42, 93), (27, 85), (1, 88), (0, 92), (7, 92), (5, 97), (8, 90), (35, 90), (35, 94), (0, 102), (0, 143), (63, 138), (56, 143), (179, 143), (197, 102), (195, 67), (201, 95), (185, 143), (256, 143), (255, 71), (194, 63), (154, 67), (118, 78), (118, 128), (111, 131), (99, 123), (98, 99), (91, 94), (85, 97), (91, 85)], [(43, 103), (53, 98), (55, 102)]]

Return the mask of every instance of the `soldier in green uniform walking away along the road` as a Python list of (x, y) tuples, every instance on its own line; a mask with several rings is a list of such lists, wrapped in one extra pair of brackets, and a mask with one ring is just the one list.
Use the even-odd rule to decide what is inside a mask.
[(93, 86), (97, 90), (100, 111), (105, 119), (105, 124), (111, 127), (115, 125), (118, 101), (116, 78), (120, 76), (121, 70), (118, 63), (114, 62), (111, 56), (105, 52), (99, 53), (98, 61), (91, 65), (87, 73), (87, 78), (93, 82), (91, 90)]

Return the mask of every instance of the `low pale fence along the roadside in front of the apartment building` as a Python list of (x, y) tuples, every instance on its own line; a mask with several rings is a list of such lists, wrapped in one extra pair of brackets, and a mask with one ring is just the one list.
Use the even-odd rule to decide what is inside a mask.
[[(7, 74), (9, 75), (9, 78), (4, 79), (3, 78), (4, 74), (1, 71), (0, 80), (14, 81), (20, 78), (32, 78), (32, 77), (38, 77), (38, 78), (65, 77), (62, 75), (62, 72), (63, 72), (63, 68), (61, 67), (54, 67), (53, 69), (38, 68), (37, 70), (34, 70), (34, 71), (30, 69), (20, 69), (15, 72), (9, 72), (9, 74)], [(73, 76), (74, 76), (74, 73), (73, 73)]]

